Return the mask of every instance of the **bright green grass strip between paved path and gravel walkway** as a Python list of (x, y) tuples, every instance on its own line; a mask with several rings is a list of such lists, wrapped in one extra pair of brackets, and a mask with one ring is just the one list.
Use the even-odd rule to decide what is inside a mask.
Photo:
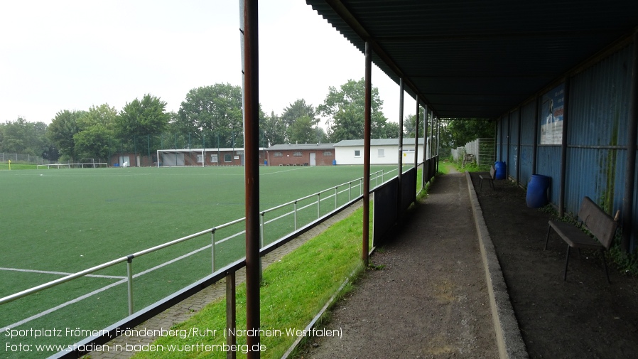
[[(296, 340), (286, 330), (303, 330), (322, 309), (330, 297), (339, 289), (344, 279), (352, 272), (363, 271), (361, 258), (362, 209), (345, 220), (332, 225), (317, 237), (308, 240), (297, 250), (284, 256), (279, 262), (264, 269), (261, 285), (261, 328), (271, 329), (273, 335), (261, 336), (266, 350), (261, 358), (281, 358)], [(190, 331), (216, 330), (214, 336), (180, 338), (166, 336), (158, 338), (153, 345), (220, 345), (225, 343), (223, 330), (226, 323), (225, 300), (209, 304), (188, 321), (172, 329)], [(237, 329), (246, 328), (246, 288), (237, 287)], [(276, 331), (281, 332), (276, 332)], [(209, 331), (209, 333), (210, 333)], [(238, 337), (237, 344), (246, 343)], [(166, 353), (159, 350), (136, 353), (134, 358), (225, 358), (221, 351), (185, 350)], [(239, 351), (238, 358), (245, 353)]]

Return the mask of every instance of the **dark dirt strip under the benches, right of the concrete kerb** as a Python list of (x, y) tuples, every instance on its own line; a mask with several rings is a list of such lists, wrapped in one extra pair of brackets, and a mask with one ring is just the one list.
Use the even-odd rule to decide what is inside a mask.
[(527, 208), (521, 188), (472, 182), (529, 357), (636, 358), (638, 280), (610, 265), (607, 284), (598, 252), (571, 251), (563, 282), (567, 245), (552, 234), (544, 250), (550, 216)]

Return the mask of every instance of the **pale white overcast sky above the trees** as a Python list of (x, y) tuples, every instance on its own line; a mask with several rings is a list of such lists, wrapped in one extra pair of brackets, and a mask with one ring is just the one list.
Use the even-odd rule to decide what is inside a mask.
[[(146, 93), (177, 112), (195, 87), (242, 85), (237, 0), (1, 1), (0, 33), (0, 122), (119, 111)], [(304, 0), (259, 2), (259, 50), (266, 114), (302, 98), (317, 107), (328, 87), (364, 76), (364, 55)], [(398, 122), (399, 86), (375, 65), (372, 85)]]

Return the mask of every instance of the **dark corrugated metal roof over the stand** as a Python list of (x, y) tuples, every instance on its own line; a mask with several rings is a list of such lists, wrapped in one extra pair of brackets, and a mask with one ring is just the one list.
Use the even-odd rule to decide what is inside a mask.
[(638, 26), (636, 0), (306, 2), (442, 118), (495, 119)]

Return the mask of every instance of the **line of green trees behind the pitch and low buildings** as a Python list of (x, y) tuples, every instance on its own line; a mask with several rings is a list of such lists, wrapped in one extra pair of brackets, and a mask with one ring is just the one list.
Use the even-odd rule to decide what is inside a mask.
[[(338, 89), (329, 87), (325, 101), (318, 107), (298, 99), (284, 108), (281, 115), (275, 112), (266, 115), (260, 109), (260, 145), (362, 139), (364, 100), (362, 78), (348, 80)], [(399, 124), (384, 117), (382, 105), (377, 87), (372, 87), (371, 136), (373, 139), (396, 138)], [(327, 119), (325, 130), (320, 127), (321, 117)], [(414, 136), (415, 118), (414, 115), (406, 117), (403, 129), (406, 136)], [(422, 121), (423, 113), (420, 119)], [(475, 128), (470, 129), (473, 130)], [(467, 136), (472, 137), (467, 141), (476, 138), (472, 134)], [(458, 133), (445, 138), (450, 145), (465, 141)], [(107, 104), (87, 110), (63, 109), (49, 125), (26, 122), (23, 118), (0, 124), (0, 151), (50, 160), (107, 159), (117, 152), (145, 154), (173, 147), (241, 146), (242, 88), (228, 83), (193, 88), (177, 112), (166, 112), (166, 102), (146, 94), (127, 102), (121, 110)]]

